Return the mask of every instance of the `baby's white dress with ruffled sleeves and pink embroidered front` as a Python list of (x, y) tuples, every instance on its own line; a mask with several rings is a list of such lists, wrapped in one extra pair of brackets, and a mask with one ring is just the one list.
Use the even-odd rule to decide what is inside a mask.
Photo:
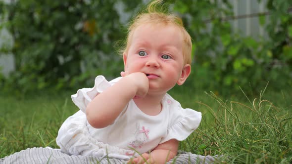
[(169, 94), (163, 97), (162, 110), (156, 116), (146, 115), (131, 100), (114, 123), (104, 128), (92, 127), (86, 120), (86, 106), (119, 79), (107, 82), (103, 76), (97, 76), (93, 88), (79, 89), (71, 96), (80, 111), (58, 131), (56, 142), (62, 152), (129, 160), (137, 157), (137, 152), (147, 153), (170, 139), (185, 140), (198, 127), (201, 113), (183, 109)]

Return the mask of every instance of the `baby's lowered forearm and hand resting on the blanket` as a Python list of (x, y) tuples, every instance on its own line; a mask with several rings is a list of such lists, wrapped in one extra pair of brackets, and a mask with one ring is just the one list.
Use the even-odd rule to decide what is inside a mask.
[(128, 164), (165, 164), (177, 155), (178, 147), (179, 141), (171, 139), (159, 144), (150, 154), (144, 153), (143, 157), (128, 161)]

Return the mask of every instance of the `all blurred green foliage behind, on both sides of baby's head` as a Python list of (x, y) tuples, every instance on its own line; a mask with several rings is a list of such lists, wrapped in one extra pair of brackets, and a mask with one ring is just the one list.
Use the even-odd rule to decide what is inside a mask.
[[(18, 0), (1, 5), (15, 40), (16, 72), (3, 88), (19, 93), (54, 86), (85, 87), (99, 74), (119, 76), (122, 59), (114, 42), (125, 39), (117, 7), (135, 15), (142, 0)], [(268, 37), (244, 37), (230, 22), (228, 0), (166, 0), (184, 20), (193, 38), (193, 71), (189, 88), (227, 94), (239, 86), (275, 89), (292, 86), (292, 1), (268, 0), (269, 15), (259, 15)], [(135, 8), (137, 7), (137, 8)], [(267, 18), (268, 17), (268, 18)]]

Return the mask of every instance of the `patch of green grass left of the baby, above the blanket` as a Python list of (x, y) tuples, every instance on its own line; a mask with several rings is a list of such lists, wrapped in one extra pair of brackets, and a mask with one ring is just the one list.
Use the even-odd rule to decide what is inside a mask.
[(71, 93), (18, 99), (0, 96), (0, 157), (32, 147), (57, 147), (58, 128), (77, 112)]

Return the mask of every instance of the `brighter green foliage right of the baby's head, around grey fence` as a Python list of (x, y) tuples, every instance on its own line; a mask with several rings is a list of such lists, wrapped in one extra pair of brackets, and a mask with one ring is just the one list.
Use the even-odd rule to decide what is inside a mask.
[(182, 13), (195, 46), (191, 84), (211, 86), (221, 94), (226, 94), (226, 88), (239, 90), (239, 86), (251, 86), (256, 91), (267, 82), (275, 89), (292, 86), (292, 46), (287, 35), (292, 31), (291, 6), (287, 0), (268, 1), (270, 20), (264, 26), (267, 15), (259, 18), (269, 34), (267, 39), (233, 32), (224, 20), (233, 16), (227, 0), (220, 4), (216, 0), (176, 1), (174, 9)]

